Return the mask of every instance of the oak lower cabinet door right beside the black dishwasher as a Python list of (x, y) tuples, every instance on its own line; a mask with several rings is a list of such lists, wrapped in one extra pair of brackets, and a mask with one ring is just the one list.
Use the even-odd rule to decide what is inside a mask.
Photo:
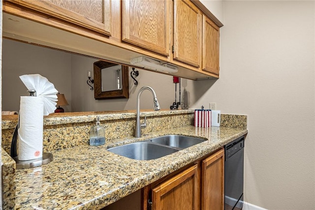
[(202, 161), (201, 209), (224, 210), (224, 149)]

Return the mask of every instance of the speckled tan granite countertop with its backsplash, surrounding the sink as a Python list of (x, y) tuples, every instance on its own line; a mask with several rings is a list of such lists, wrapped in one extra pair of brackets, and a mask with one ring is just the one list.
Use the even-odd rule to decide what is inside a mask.
[[(102, 117), (101, 124), (109, 130), (105, 134), (106, 144), (98, 147), (88, 145), (87, 141), (96, 115)], [(44, 141), (47, 145), (44, 151), (51, 152), (54, 161), (41, 167), (15, 171), (13, 160), (7, 157), (11, 167), (5, 174), (16, 180), (15, 196), (7, 203), (12, 206), (15, 202), (15, 208), (21, 210), (100, 209), (247, 134), (246, 115), (221, 114), (222, 126), (211, 128), (190, 126), (193, 110), (145, 112), (144, 115), (150, 119), (149, 128), (143, 129), (141, 138), (132, 137), (135, 124), (132, 112), (88, 112), (44, 118)], [(10, 140), (7, 131), (14, 128), (14, 120), (2, 120), (2, 144)], [(61, 132), (64, 127), (70, 131)], [(206, 141), (150, 161), (132, 160), (106, 150), (167, 134), (201, 137)], [(56, 136), (62, 139), (56, 141)], [(59, 145), (61, 141), (65, 142)], [(3, 193), (12, 196), (14, 182), (8, 178), (6, 181), (11, 188), (3, 188)]]

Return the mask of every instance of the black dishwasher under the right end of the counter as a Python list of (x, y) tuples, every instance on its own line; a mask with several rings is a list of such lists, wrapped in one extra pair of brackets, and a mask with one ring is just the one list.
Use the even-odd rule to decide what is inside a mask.
[(244, 202), (244, 137), (226, 144), (224, 151), (224, 209), (242, 210)]

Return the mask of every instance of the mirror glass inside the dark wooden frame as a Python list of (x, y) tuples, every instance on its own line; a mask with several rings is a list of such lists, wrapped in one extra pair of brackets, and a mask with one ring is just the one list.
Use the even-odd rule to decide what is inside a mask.
[(102, 92), (122, 89), (122, 65), (101, 70)]

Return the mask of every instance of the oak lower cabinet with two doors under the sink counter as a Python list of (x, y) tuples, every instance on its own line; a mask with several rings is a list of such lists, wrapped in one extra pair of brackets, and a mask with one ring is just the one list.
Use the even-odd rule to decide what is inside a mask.
[(224, 149), (145, 187), (142, 209), (224, 210)]

